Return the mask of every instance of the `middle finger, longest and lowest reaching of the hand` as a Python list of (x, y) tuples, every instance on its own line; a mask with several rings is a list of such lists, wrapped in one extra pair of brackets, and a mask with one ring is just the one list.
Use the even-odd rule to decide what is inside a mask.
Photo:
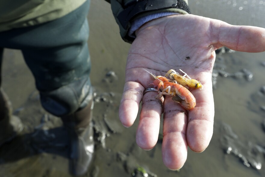
[(172, 170), (180, 169), (187, 159), (187, 110), (166, 97), (164, 101), (162, 157)]

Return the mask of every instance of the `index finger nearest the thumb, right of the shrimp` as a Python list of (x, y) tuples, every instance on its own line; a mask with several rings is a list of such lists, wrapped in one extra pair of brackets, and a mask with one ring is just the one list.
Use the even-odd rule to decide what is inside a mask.
[(196, 106), (189, 111), (186, 131), (187, 143), (191, 150), (202, 152), (209, 145), (213, 135), (214, 97), (211, 83), (211, 73), (204, 73), (208, 81), (202, 90), (193, 90)]

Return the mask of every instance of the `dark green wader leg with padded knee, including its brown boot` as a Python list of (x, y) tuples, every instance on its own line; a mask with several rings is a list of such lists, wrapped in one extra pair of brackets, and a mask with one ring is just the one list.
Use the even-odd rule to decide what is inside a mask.
[(0, 47), (22, 50), (44, 109), (61, 117), (69, 130), (75, 175), (86, 172), (94, 151), (86, 19), (89, 2), (54, 21), (0, 33)]

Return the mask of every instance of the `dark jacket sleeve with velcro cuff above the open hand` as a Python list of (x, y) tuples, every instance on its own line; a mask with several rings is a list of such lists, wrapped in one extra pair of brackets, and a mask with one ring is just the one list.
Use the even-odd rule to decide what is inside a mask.
[(125, 42), (132, 43), (134, 38), (128, 35), (131, 22), (139, 17), (161, 12), (190, 14), (188, 0), (106, 0), (111, 9), (120, 35)]

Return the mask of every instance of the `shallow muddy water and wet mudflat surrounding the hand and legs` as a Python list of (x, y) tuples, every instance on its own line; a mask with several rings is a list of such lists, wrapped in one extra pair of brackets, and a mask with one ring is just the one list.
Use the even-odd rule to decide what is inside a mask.
[[(265, 27), (265, 1), (207, 2), (190, 1), (189, 6), (193, 14), (230, 24)], [(132, 172), (141, 176), (137, 167), (144, 168), (149, 176), (265, 176), (265, 111), (261, 107), (265, 106), (264, 52), (217, 55), (213, 138), (203, 153), (189, 150), (182, 169), (171, 171), (162, 162), (161, 141), (150, 151), (135, 143), (139, 117), (130, 128), (119, 122), (130, 45), (121, 40), (108, 3), (92, 0), (89, 26), (97, 143), (93, 166), (84, 176), (129, 177)], [(41, 109), (34, 80), (19, 51), (5, 50), (3, 87), (26, 128), (23, 135), (0, 149), (0, 177), (70, 176), (67, 138), (62, 138), (66, 132), (60, 128), (60, 119)], [(58, 132), (60, 136), (55, 136)]]

